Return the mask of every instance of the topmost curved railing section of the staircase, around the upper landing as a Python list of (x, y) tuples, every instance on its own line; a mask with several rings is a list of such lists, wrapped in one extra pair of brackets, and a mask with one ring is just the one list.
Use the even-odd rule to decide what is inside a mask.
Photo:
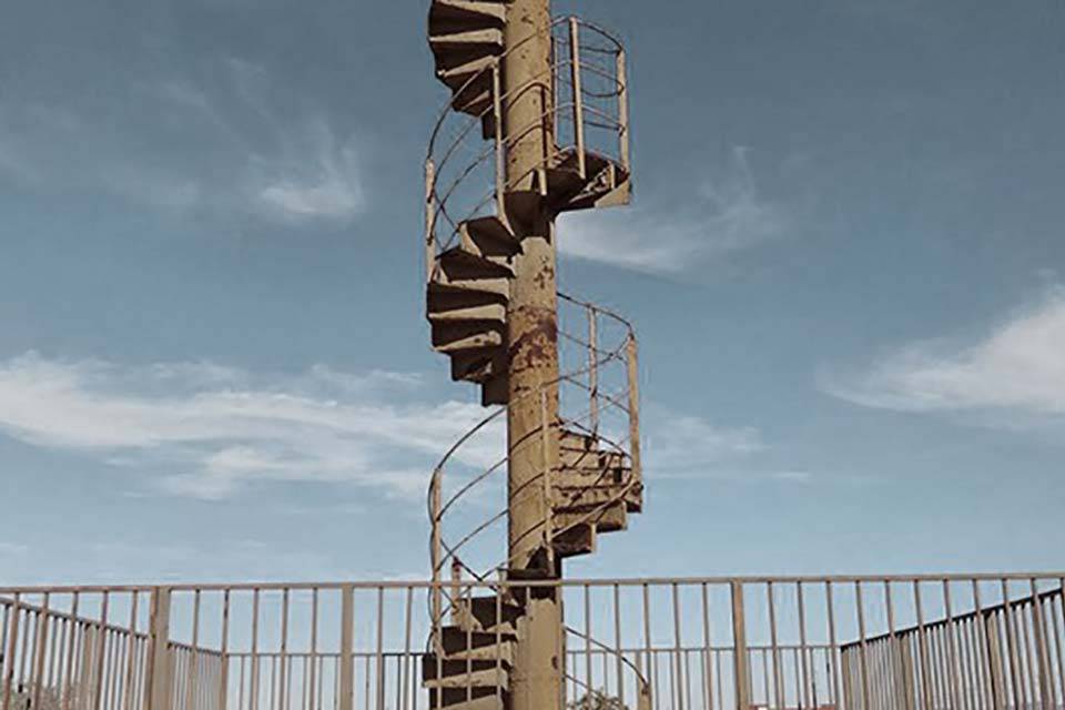
[[(454, 101), (449, 101), (434, 126), (425, 162), (425, 266), (429, 278), (437, 255), (459, 239), (464, 221), (495, 214), (507, 223), (507, 194), (534, 174), (540, 174), (542, 186), (544, 171), (567, 150), (575, 151), (582, 178), (588, 151), (630, 172), (625, 49), (606, 30), (575, 17), (556, 19), (547, 31), (555, 48), (549, 70), (503, 91), (504, 59), (539, 36), (526, 38), (456, 91), (459, 95), (487, 83), (491, 87), (490, 105), (469, 115), (455, 112)], [(547, 110), (529, 125), (509, 126), (505, 135), (507, 102), (530, 90), (549, 97), (545, 101)], [(536, 166), (508, 179), (507, 151), (529, 130), (545, 124), (551, 126), (551, 148)]]

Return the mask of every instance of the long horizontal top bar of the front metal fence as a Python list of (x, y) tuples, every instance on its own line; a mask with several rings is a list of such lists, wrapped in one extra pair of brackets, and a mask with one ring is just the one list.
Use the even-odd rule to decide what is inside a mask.
[[(913, 575), (828, 575), (828, 576), (741, 576), (741, 577), (630, 577), (565, 580), (463, 580), (463, 587), (497, 589), (535, 587), (663, 587), (700, 585), (843, 585), (884, 582), (943, 582), (943, 581), (1030, 581), (1065, 579), (1062, 571), (1018, 572), (950, 572)], [(450, 581), (377, 580), (377, 581), (265, 581), (265, 582), (160, 582), (154, 585), (31, 585), (0, 586), (0, 595), (40, 594), (148, 594), (155, 590), (170, 591), (313, 591), (366, 590), (366, 589), (435, 589), (450, 587)], [(4, 604), (0, 600), (0, 604)]]

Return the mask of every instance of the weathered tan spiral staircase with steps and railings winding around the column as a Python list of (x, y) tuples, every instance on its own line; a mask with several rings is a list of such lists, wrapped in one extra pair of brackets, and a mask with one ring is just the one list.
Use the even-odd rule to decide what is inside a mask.
[[(439, 581), (450, 569), (453, 580), (452, 587), (436, 587), (430, 600), (433, 635), (423, 682), (432, 708), (509, 707), (518, 622), (531, 594), (529, 588), (519, 594), (513, 585), (544, 578), (536, 570), (516, 569), (505, 552), (503, 561), (495, 558), (487, 569), (469, 561), (507, 516), (504, 509), (478, 518), (481, 510), (470, 505), (484, 488), (498, 491), (506, 486), (507, 457), (477, 469), (470, 466), (477, 456), (469, 452), (477, 448), (477, 437), (499, 436), (506, 406), (516, 404), (508, 395), (507, 313), (523, 242), (511, 220), (521, 219), (529, 185), (538, 207), (551, 217), (627, 204), (630, 195), (621, 45), (576, 18), (555, 20), (549, 29), (550, 71), (507, 93), (504, 60), (520, 49), (505, 47), (507, 12), (508, 3), (497, 0), (434, 0), (429, 11), (436, 74), (452, 98), (426, 162), (427, 316), (433, 347), (448, 356), (452, 378), (478, 385), (481, 403), (497, 407), (448, 452), (429, 490), (434, 579)], [(508, 179), (504, 166), (511, 139), (503, 130), (504, 106), (510, 94), (532, 84), (549, 92), (539, 121), (550, 126), (554, 145), (530, 174)], [(521, 396), (544, 398), (551, 388), (562, 405), (557, 418), (545, 415), (539, 423), (541, 436), (557, 438), (559, 457), (557, 466), (541, 474), (548, 514), (531, 531), (542, 536), (560, 568), (560, 560), (594, 552), (600, 535), (625, 530), (629, 515), (642, 509), (643, 485), (632, 328), (590, 303), (565, 294), (559, 294), (559, 303), (560, 310), (577, 314), (584, 331), (559, 331), (560, 349), (574, 354), (576, 364), (567, 367), (564, 358), (558, 382)], [(464, 506), (466, 514), (460, 515)], [(454, 520), (466, 523), (457, 541), (450, 535)], [(464, 591), (464, 579), (484, 584), (493, 576), (501, 582), (487, 587), (493, 594), (475, 595), (473, 586)], [(608, 648), (595, 639), (584, 641)], [(620, 661), (636, 679), (639, 707), (649, 707), (640, 670), (627, 659)], [(569, 673), (566, 681), (579, 682)]]

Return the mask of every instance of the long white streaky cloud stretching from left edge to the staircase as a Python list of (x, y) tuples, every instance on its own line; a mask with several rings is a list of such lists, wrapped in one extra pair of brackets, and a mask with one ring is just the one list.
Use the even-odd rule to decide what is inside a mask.
[[(416, 382), (324, 366), (267, 377), (211, 364), (122, 367), (31, 353), (0, 364), (0, 432), (152, 471), (162, 490), (182, 496), (224, 498), (266, 480), (420, 496), (436, 459), (485, 412), (419, 402)], [(397, 404), (404, 398), (414, 402)], [(457, 464), (487, 466), (500, 454), (484, 437)]]

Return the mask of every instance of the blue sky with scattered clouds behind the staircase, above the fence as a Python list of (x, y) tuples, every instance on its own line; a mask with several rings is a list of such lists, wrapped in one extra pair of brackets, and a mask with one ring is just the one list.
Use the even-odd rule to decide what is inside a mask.
[[(485, 414), (423, 317), (425, 3), (7, 10), (0, 578), (424, 576)], [(649, 489), (570, 574), (1062, 567), (1065, 7), (575, 10), (637, 195), (561, 281), (640, 334)]]

